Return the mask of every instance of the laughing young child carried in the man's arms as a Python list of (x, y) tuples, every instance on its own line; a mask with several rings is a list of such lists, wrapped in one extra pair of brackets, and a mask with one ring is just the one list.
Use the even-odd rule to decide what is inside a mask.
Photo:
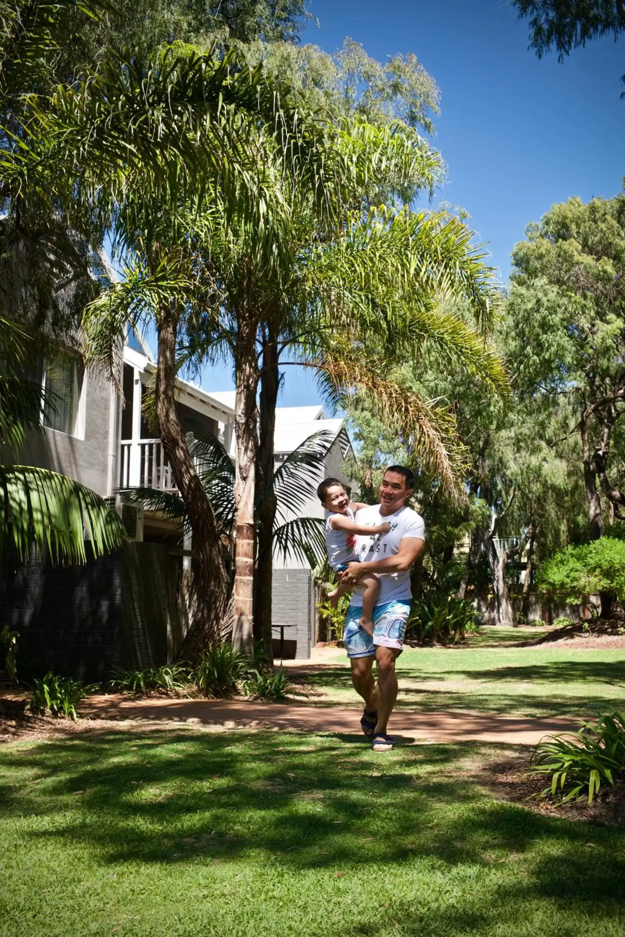
[[(388, 533), (391, 525), (365, 527), (364, 524), (356, 524), (354, 514), (366, 505), (356, 501), (350, 502), (343, 484), (338, 479), (324, 479), (317, 489), (317, 494), (328, 512), (325, 522), (325, 545), (330, 566), (335, 573), (344, 573), (348, 563), (360, 561), (355, 550), (356, 534)], [(373, 607), (378, 598), (379, 578), (374, 573), (367, 573), (358, 580), (358, 585), (363, 587), (363, 617), (360, 623), (367, 634), (373, 634)], [(328, 599), (336, 606), (340, 597), (350, 589), (351, 586), (347, 583), (339, 583), (332, 592), (328, 592)]]

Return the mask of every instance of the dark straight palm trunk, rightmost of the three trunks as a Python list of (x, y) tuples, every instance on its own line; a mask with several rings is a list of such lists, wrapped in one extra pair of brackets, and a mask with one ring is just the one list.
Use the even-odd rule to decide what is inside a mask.
[(254, 637), (273, 663), (272, 594), (274, 577), (275, 494), (267, 490), (274, 474), (275, 405), (280, 384), (278, 352), (275, 335), (267, 329), (262, 341), (260, 371), (260, 442), (257, 455), (256, 503), (259, 521), (258, 562), (256, 568), (256, 602), (254, 606)]

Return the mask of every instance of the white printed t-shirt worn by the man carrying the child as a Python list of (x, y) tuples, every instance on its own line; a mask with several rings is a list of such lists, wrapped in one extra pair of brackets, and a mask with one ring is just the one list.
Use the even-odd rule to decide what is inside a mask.
[[(356, 512), (356, 524), (365, 527), (377, 527), (379, 524), (391, 525), (389, 533), (374, 534), (367, 537), (360, 534), (356, 538), (356, 552), (361, 562), (372, 562), (378, 559), (394, 557), (399, 552), (399, 543), (404, 537), (414, 537), (424, 540), (425, 525), (423, 517), (412, 508), (400, 508), (394, 514), (379, 513), (379, 504), (369, 508), (361, 508)], [(375, 570), (372, 570), (376, 573)], [(397, 573), (376, 573), (379, 576), (379, 595), (376, 605), (384, 602), (409, 602), (410, 571), (403, 570)], [(350, 605), (363, 604), (363, 595), (360, 589), (354, 589)]]

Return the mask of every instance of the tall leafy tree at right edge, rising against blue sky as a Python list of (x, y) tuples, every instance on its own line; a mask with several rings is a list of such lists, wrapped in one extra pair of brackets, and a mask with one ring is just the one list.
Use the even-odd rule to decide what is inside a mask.
[(602, 498), (625, 514), (610, 475), (625, 412), (625, 196), (554, 205), (513, 251), (509, 361), (515, 386), (567, 403), (563, 435), (578, 434), (590, 536), (604, 531)]

